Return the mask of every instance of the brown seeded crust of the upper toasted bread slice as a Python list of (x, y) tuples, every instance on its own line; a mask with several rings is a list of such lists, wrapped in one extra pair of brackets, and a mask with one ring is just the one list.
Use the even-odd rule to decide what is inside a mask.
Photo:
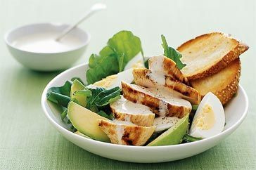
[[(235, 46), (231, 48), (228, 53), (222, 56), (222, 58), (219, 58), (219, 60), (216, 63), (212, 63), (211, 65), (208, 65), (208, 67), (205, 67), (203, 70), (200, 70), (200, 72), (194, 72), (193, 74), (186, 74), (181, 70), (181, 72), (183, 72), (186, 75), (188, 80), (203, 79), (204, 77), (210, 77), (212, 74), (215, 74), (220, 70), (224, 69), (224, 67), (227, 67), (229, 63), (231, 63), (233, 60), (238, 58), (239, 55), (247, 51), (249, 48), (243, 42), (232, 38), (230, 34), (224, 34), (222, 32), (212, 32), (210, 34), (203, 34), (194, 39), (186, 41), (184, 44), (181, 44), (181, 46), (179, 46), (177, 50), (182, 54), (182, 51), (184, 49), (188, 48), (189, 46), (193, 46), (193, 44), (195, 44), (195, 42), (198, 41), (199, 39), (200, 41), (204, 41), (205, 39), (207, 39), (207, 37), (210, 37), (212, 35), (219, 35), (222, 38), (229, 39), (229, 41), (232, 44), (235, 44)], [(188, 57), (188, 56), (183, 56), (183, 58), (184, 57)]]

